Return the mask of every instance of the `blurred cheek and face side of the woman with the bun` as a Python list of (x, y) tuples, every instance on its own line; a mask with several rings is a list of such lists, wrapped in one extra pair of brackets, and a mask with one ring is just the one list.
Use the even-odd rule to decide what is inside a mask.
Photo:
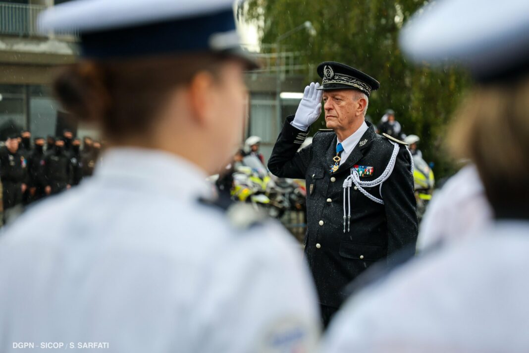
[(218, 73), (218, 83), (215, 87), (214, 104), (216, 119), (211, 126), (215, 132), (214, 153), (221, 160), (231, 157), (240, 143), (244, 122), (245, 101), (247, 90), (243, 76), (244, 66), (233, 60), (225, 62)]

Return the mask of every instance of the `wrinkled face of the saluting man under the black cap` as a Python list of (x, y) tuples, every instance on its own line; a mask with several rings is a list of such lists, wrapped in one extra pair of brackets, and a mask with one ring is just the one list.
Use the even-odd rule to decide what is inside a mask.
[(323, 92), (323, 109), (327, 129), (346, 130), (354, 123), (358, 101), (351, 89), (336, 89)]

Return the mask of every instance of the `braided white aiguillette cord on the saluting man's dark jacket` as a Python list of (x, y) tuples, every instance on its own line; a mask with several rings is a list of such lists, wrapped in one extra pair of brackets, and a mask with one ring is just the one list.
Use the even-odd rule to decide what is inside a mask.
[[(351, 168), (351, 175), (345, 178), (345, 180), (343, 181), (343, 232), (344, 233), (345, 233), (345, 220), (347, 220), (347, 231), (349, 232), (351, 230), (351, 186), (353, 186), (353, 183), (362, 194), (366, 195), (369, 198), (369, 200), (379, 203), (381, 205), (384, 205), (384, 200), (381, 200), (380, 198), (371, 195), (364, 189), (364, 187), (374, 187), (374, 186), (380, 185), (379, 191), (380, 191), (380, 196), (382, 196), (382, 183), (384, 183), (389, 178), (391, 173), (393, 172), (393, 168), (395, 168), (395, 161), (397, 160), (398, 151), (400, 149), (398, 143), (393, 142), (393, 141), (390, 141), (390, 142), (393, 143), (393, 146), (394, 146), (393, 153), (391, 153), (388, 166), (384, 170), (384, 173), (382, 173), (378, 178), (376, 178), (375, 180), (371, 180), (369, 182), (361, 181), (360, 175), (358, 174), (358, 170)], [(412, 153), (409, 152), (409, 150), (408, 150), (408, 153), (409, 153), (409, 157), (412, 160), (412, 174), (413, 174), (413, 168), (414, 168), (413, 157), (412, 157)], [(349, 214), (346, 213), (346, 209), (345, 209), (345, 189), (347, 189), (347, 194), (348, 194)]]

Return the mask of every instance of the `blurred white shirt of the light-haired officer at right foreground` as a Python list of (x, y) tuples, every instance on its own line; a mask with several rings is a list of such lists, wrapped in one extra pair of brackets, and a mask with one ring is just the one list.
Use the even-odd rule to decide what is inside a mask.
[(529, 351), (529, 222), (417, 258), (351, 298), (322, 352)]

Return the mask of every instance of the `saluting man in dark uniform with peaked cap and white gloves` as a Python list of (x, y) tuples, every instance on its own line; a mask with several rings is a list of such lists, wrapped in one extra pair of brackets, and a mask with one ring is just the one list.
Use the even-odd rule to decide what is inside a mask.
[[(377, 80), (339, 62), (323, 62), (317, 71), (322, 85), (305, 88), (268, 167), (278, 177), (306, 179), (305, 254), (327, 325), (352, 279), (400, 249), (414, 253), (417, 216), (405, 143), (376, 134), (364, 120)], [(296, 152), (321, 113), (322, 96), (330, 130)]]

